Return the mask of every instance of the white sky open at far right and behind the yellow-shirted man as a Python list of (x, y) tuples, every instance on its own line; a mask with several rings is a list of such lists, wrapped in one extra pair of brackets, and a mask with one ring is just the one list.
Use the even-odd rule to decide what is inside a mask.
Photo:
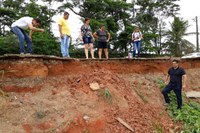
[[(188, 20), (189, 22), (189, 27), (187, 30), (187, 33), (189, 32), (195, 32), (196, 31), (196, 23), (194, 21), (195, 17), (197, 16), (199, 18), (199, 22), (200, 22), (200, 9), (199, 9), (199, 5), (200, 5), (200, 0), (180, 0), (178, 2), (178, 4), (180, 5), (180, 17), (183, 18), (184, 20)], [(66, 10), (70, 13), (70, 17), (69, 17), (69, 24), (71, 27), (71, 35), (73, 40), (77, 39), (80, 33), (80, 27), (83, 24), (82, 21), (80, 20), (80, 17), (77, 16), (76, 14), (74, 14), (73, 12), (71, 12), (70, 10)], [(58, 14), (56, 16), (53, 17), (53, 20), (55, 21), (55, 23), (53, 23), (52, 27), (53, 27), (53, 33), (55, 34), (55, 36), (59, 37), (59, 31), (58, 31), (58, 25), (57, 25), (57, 21), (60, 17), (62, 17), (63, 14)], [(166, 20), (167, 23), (169, 23), (169, 20)], [(199, 23), (198, 23), (199, 24)], [(200, 25), (199, 25), (200, 27)], [(188, 41), (192, 42), (195, 46), (196, 46), (196, 35), (189, 35), (189, 36), (185, 36), (185, 39), (187, 39)]]

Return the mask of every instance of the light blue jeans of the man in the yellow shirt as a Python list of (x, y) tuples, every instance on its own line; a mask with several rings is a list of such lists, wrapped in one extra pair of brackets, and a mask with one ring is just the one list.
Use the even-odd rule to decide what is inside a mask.
[(64, 35), (63, 38), (61, 38), (61, 46), (60, 46), (63, 57), (69, 57), (69, 43), (70, 43), (70, 37)]

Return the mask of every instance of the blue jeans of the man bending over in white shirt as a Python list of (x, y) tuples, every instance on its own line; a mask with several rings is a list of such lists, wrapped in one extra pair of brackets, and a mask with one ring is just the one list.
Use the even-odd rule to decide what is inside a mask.
[(20, 53), (25, 53), (24, 41), (26, 41), (27, 43), (28, 53), (32, 53), (32, 41), (29, 38), (28, 34), (23, 29), (20, 29), (17, 26), (11, 27), (11, 30), (17, 35), (19, 39)]

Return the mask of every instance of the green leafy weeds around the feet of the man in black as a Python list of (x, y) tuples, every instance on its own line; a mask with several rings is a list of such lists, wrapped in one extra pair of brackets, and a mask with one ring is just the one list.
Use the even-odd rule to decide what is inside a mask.
[[(165, 87), (163, 81), (159, 81), (157, 83), (159, 83), (161, 90)], [(177, 110), (175, 94), (170, 93), (169, 96), (171, 102), (167, 108), (167, 111), (175, 121), (181, 121), (184, 123), (182, 133), (200, 133), (200, 104), (195, 102), (187, 103), (184, 97), (182, 109)]]

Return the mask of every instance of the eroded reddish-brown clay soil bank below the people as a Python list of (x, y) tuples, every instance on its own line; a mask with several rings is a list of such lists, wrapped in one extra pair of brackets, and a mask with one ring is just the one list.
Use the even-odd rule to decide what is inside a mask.
[[(2, 133), (131, 133), (118, 117), (136, 133), (181, 129), (165, 111), (157, 83), (169, 61), (20, 62), (0, 65), (6, 71), (0, 83)], [(199, 89), (199, 65), (183, 66), (187, 90)]]

